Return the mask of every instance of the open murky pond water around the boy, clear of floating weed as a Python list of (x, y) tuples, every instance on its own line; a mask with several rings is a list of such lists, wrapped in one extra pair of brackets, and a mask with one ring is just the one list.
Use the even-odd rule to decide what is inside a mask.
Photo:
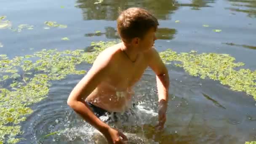
[[(75, 50), (95, 40), (116, 39), (118, 9), (147, 8), (157, 16), (160, 28), (158, 51), (171, 48), (228, 53), (245, 68), (256, 69), (256, 0), (1, 0), (0, 16), (12, 27), (33, 25), (33, 30), (0, 29), (0, 54), (24, 56), (43, 48)], [(44, 21), (66, 24), (66, 29), (44, 29)], [(204, 26), (203, 26), (204, 25)], [(209, 27), (205, 27), (208, 25)], [(213, 32), (220, 29), (221, 32)], [(97, 32), (96, 31), (100, 31)], [(68, 37), (69, 40), (61, 40)], [(91, 65), (80, 65), (88, 70)], [(141, 139), (160, 144), (244, 144), (256, 140), (256, 101), (245, 93), (209, 79), (199, 79), (183, 69), (167, 65), (171, 77), (170, 101), (165, 131), (156, 133), (157, 93), (155, 75), (147, 69), (136, 84), (137, 112), (145, 127)], [(21, 144), (88, 144), (93, 128), (67, 106), (67, 97), (83, 76), (69, 75), (53, 81), (48, 97), (32, 105), (34, 112), (21, 123), (26, 140)], [(146, 103), (146, 104), (145, 104)], [(59, 135), (43, 137), (55, 131)], [(138, 134), (139, 135), (139, 134)]]

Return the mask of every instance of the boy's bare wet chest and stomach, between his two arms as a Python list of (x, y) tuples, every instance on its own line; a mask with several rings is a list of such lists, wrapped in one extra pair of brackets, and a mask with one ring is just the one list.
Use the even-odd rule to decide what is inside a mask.
[(155, 51), (150, 48), (144, 53), (139, 53), (133, 62), (122, 50), (122, 45), (119, 43), (106, 50), (107, 54), (112, 55), (112, 72), (86, 98), (86, 101), (109, 112), (124, 112), (130, 108), (134, 94), (132, 86), (140, 80), (149, 66), (151, 53)]

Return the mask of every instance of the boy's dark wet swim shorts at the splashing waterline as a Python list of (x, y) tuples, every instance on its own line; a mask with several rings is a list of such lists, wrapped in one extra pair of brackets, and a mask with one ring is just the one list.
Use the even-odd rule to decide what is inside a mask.
[[(90, 102), (86, 101), (86, 103), (91, 107), (92, 111), (94, 112), (94, 114), (97, 117), (101, 117), (101, 116), (108, 116), (106, 122), (110, 122), (110, 121), (114, 121), (117, 122), (120, 119), (122, 119), (122, 121), (128, 121), (129, 116), (131, 115), (135, 115), (135, 113), (133, 112), (133, 110), (124, 112), (123, 114), (119, 113), (119, 112), (108, 112), (105, 109), (102, 109), (100, 107), (97, 107), (93, 104), (91, 104)], [(132, 104), (132, 108), (133, 109), (135, 107), (135, 104)]]

